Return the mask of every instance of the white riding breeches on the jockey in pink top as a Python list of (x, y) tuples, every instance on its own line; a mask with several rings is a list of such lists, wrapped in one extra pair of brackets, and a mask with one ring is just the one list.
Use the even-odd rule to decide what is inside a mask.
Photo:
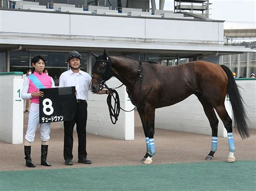
[[(39, 125), (39, 104), (31, 103), (29, 111), (28, 129), (26, 130), (25, 139), (33, 142), (36, 136), (36, 130)], [(46, 142), (50, 139), (50, 123), (40, 124), (41, 139)]]

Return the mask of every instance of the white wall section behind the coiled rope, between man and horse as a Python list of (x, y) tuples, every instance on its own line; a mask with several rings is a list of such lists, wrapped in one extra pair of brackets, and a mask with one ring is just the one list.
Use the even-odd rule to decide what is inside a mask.
[[(112, 77), (107, 81), (107, 86), (110, 88), (118, 87), (122, 84), (116, 77)], [(120, 98), (120, 106), (124, 110), (134, 108), (127, 93), (126, 87), (122, 86), (116, 89)], [(112, 124), (109, 108), (106, 103), (107, 95), (90, 94), (88, 103), (88, 118), (87, 118), (87, 133), (111, 137), (122, 140), (134, 139), (134, 111), (120, 111), (118, 121), (115, 125)]]

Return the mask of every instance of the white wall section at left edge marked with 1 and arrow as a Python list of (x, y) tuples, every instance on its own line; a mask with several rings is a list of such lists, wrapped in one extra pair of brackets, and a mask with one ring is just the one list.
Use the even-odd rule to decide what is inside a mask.
[(22, 74), (0, 73), (0, 141), (23, 143)]

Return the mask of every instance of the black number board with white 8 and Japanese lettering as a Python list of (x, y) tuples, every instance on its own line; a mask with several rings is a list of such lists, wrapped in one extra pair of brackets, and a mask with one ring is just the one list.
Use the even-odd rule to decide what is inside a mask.
[(43, 91), (44, 96), (39, 97), (39, 123), (70, 121), (75, 117), (75, 86), (40, 91)]

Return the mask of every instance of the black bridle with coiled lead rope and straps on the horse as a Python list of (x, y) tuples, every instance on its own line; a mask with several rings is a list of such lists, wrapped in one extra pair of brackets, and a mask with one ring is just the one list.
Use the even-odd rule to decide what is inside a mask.
[[(122, 87), (124, 84), (122, 84), (122, 85), (120, 85), (120, 86), (118, 86), (117, 88), (109, 88), (109, 87), (107, 87), (107, 85), (106, 85), (106, 81), (107, 80), (109, 80), (110, 79), (110, 77), (109, 77), (109, 75), (105, 75), (106, 74), (106, 70), (107, 70), (107, 67), (111, 67), (111, 62), (109, 62), (109, 61), (106, 61), (106, 60), (96, 60), (96, 62), (95, 62), (95, 66), (93, 67), (93, 72), (96, 72), (95, 70), (96, 70), (96, 63), (97, 62), (104, 62), (105, 63), (105, 65), (106, 65), (106, 67), (104, 68), (104, 72), (102, 73), (102, 76), (100, 76), (100, 78), (99, 77), (92, 77), (93, 79), (96, 79), (96, 80), (98, 80), (98, 81), (100, 81), (100, 83), (99, 83), (99, 86), (100, 86), (100, 90), (102, 90), (103, 88), (106, 88), (107, 90), (109, 90), (110, 92), (111, 92), (111, 94), (109, 94), (108, 96), (107, 96), (107, 105), (109, 106), (109, 112), (110, 112), (110, 119), (111, 119), (111, 122), (113, 123), (113, 124), (116, 124), (116, 122), (117, 122), (117, 120), (118, 120), (118, 116), (119, 116), (119, 113), (120, 113), (120, 109), (121, 110), (123, 110), (123, 111), (125, 111), (125, 112), (131, 112), (131, 111), (133, 111), (134, 109), (136, 109), (137, 107), (138, 107), (138, 105), (139, 105), (139, 100), (140, 100), (140, 90), (142, 89), (142, 83), (143, 83), (143, 76), (142, 76), (142, 74), (143, 74), (143, 66), (142, 66), (142, 61), (139, 61), (139, 68), (138, 68), (138, 78), (135, 80), (135, 82), (133, 83), (133, 85), (136, 83), (136, 81), (138, 80), (138, 79), (140, 79), (140, 83), (139, 83), (139, 95), (138, 95), (138, 102), (137, 102), (137, 104), (135, 105), (135, 107), (132, 109), (132, 110), (130, 110), (130, 111), (126, 111), (126, 110), (124, 110), (123, 108), (121, 108), (120, 107), (120, 99), (119, 99), (119, 95), (118, 95), (118, 93), (117, 93), (117, 91), (116, 90), (114, 90), (114, 89), (117, 89), (117, 88), (120, 88), (120, 87)], [(97, 74), (97, 73), (96, 73)], [(112, 73), (112, 68), (111, 68), (111, 74), (113, 74)], [(99, 74), (98, 74), (99, 75)], [(107, 76), (107, 77), (105, 77), (105, 76)], [(127, 93), (128, 93), (128, 89), (126, 88), (126, 91), (127, 91)], [(129, 94), (129, 93), (128, 93)], [(114, 100), (114, 106), (112, 106), (112, 97), (113, 97), (113, 100)], [(113, 118), (114, 118), (114, 121), (113, 121)]]

